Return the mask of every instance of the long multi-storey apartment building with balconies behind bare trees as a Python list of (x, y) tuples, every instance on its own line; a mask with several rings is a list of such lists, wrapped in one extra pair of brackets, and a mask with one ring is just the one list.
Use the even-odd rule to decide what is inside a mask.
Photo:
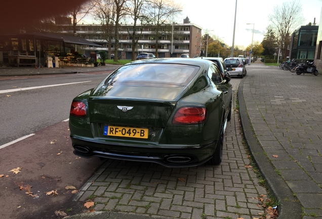
[[(60, 25), (61, 33), (73, 34), (71, 25)], [(135, 48), (135, 57), (140, 52), (155, 54), (156, 40), (153, 26), (136, 26), (139, 36), (138, 45)], [(119, 27), (118, 57), (121, 59), (132, 58), (132, 24), (120, 24)], [(75, 35), (80, 36), (101, 47), (85, 47), (85, 54), (99, 54), (100, 51), (108, 51), (108, 42), (100, 24), (77, 24)], [(158, 34), (157, 57), (180, 57), (181, 54), (189, 54), (190, 57), (198, 56), (202, 50), (202, 27), (193, 23), (174, 23), (165, 25)], [(114, 54), (114, 38), (111, 43), (111, 54)]]

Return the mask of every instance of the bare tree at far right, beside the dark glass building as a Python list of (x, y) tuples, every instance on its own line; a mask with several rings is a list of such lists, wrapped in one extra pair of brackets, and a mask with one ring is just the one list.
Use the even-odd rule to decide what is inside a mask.
[(298, 0), (285, 2), (282, 6), (276, 6), (273, 13), (268, 16), (271, 27), (276, 33), (278, 46), (284, 57), (288, 55), (287, 47), (291, 43), (291, 35), (294, 30), (303, 23), (302, 5)]

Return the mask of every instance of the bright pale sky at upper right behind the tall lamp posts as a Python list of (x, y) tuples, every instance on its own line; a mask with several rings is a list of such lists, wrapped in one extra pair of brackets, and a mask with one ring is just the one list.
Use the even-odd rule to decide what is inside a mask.
[[(226, 45), (232, 45), (236, 0), (174, 1), (183, 7), (181, 15), (174, 18), (175, 22), (183, 23), (183, 19), (188, 16), (191, 23), (202, 27), (203, 35), (208, 31), (210, 36), (217, 36)], [(319, 25), (322, 0), (298, 1), (305, 18), (302, 25), (313, 23), (314, 18), (316, 25)], [(268, 15), (272, 14), (274, 7), (282, 6), (284, 2), (293, 0), (237, 0), (234, 47), (246, 49), (252, 44), (253, 26), (253, 44), (257, 41), (261, 43), (266, 27), (270, 24)]]

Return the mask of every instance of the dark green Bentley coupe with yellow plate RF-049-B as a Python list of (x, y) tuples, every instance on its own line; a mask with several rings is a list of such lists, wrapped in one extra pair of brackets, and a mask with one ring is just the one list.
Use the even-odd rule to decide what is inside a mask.
[(74, 154), (167, 167), (220, 164), (231, 77), (203, 59), (138, 60), (71, 103)]

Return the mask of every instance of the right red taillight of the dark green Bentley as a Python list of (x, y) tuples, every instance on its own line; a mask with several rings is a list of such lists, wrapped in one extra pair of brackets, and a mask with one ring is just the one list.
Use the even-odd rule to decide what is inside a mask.
[(206, 112), (205, 107), (182, 107), (177, 111), (172, 123), (175, 125), (204, 123)]

